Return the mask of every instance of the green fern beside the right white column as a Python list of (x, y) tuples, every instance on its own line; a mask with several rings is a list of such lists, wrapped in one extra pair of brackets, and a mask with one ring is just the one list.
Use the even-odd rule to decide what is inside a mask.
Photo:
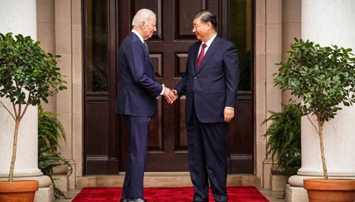
[(276, 169), (287, 178), (296, 175), (301, 167), (301, 117), (302, 112), (296, 105), (285, 106), (283, 112), (272, 112), (271, 116), (264, 120), (271, 122), (265, 138), (266, 158), (271, 155), (272, 163), (276, 161)]

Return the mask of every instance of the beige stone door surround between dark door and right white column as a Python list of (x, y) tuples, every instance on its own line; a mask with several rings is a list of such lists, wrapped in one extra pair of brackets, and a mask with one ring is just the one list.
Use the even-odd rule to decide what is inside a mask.
[[(259, 3), (260, 2), (260, 3)], [(257, 150), (257, 174), (258, 170), (261, 170), (259, 166), (263, 167), (263, 187), (264, 188), (269, 188), (270, 187), (270, 173), (271, 173), (271, 167), (272, 163), (270, 159), (265, 158), (265, 153), (266, 153), (266, 142), (267, 139), (262, 136), (266, 132), (266, 128), (270, 125), (270, 122), (266, 123), (265, 125), (261, 125), (261, 122), (259, 121), (264, 121), (265, 118), (270, 117), (271, 114), (268, 112), (274, 111), (274, 112), (281, 112), (281, 90), (278, 87), (275, 87), (273, 84), (273, 79), (274, 76), (272, 75), (273, 73), (277, 72), (277, 65), (275, 63), (279, 63), (281, 60), (281, 39), (282, 39), (282, 0), (275, 0), (275, 1), (262, 1), (262, 3), (265, 4), (265, 35), (261, 31), (263, 27), (261, 27), (261, 22), (264, 20), (261, 16), (258, 18), (260, 20), (259, 26), (257, 27), (259, 29), (257, 34), (257, 49), (256, 49), (256, 56), (257, 60), (260, 61), (262, 60), (262, 53), (263, 49), (265, 48), (265, 69), (261, 70), (263, 66), (259, 66), (257, 64), (257, 96), (256, 96), (256, 102), (257, 102), (257, 113), (258, 113), (258, 120), (256, 121), (257, 127), (260, 127), (260, 133), (258, 131), (257, 133), (257, 142), (256, 142), (256, 150)], [(257, 1), (257, 6), (258, 4), (262, 6), (261, 1)], [(258, 8), (258, 7), (257, 7)], [(260, 11), (260, 9), (257, 11), (260, 12), (258, 15), (263, 15), (264, 11)], [(260, 37), (260, 38), (259, 38)], [(263, 38), (264, 37), (264, 38)], [(261, 42), (265, 42), (262, 44)], [(278, 61), (278, 62), (277, 62)], [(262, 84), (262, 83), (265, 84)], [(260, 87), (260, 85), (264, 85), (263, 88)], [(265, 90), (265, 94), (262, 94), (260, 92), (263, 92)], [(264, 97), (265, 96), (265, 97)], [(261, 107), (261, 104), (263, 106)], [(261, 107), (261, 108), (259, 108)], [(259, 109), (258, 109), (259, 108)], [(260, 113), (261, 112), (261, 113)], [(260, 119), (260, 118), (264, 119)], [(266, 126), (266, 127), (265, 127)], [(259, 151), (259, 152), (258, 152)], [(261, 165), (263, 164), (263, 165)]]

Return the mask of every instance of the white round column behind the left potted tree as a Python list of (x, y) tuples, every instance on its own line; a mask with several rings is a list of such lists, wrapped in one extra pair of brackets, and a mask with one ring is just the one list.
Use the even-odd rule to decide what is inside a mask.
[[(37, 39), (36, 1), (0, 0), (0, 32), (22, 34)], [(8, 98), (0, 98), (10, 111)], [(0, 107), (0, 180), (7, 180), (12, 157), (15, 121)], [(37, 106), (30, 106), (23, 117), (18, 134), (17, 157), (14, 176), (18, 179), (33, 179), (40, 183), (35, 201), (52, 201), (53, 187), (48, 176), (38, 169), (38, 113)]]

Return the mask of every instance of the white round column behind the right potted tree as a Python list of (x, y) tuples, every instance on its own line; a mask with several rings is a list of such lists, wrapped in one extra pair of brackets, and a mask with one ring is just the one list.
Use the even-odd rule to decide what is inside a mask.
[[(351, 0), (302, 0), (301, 35), (321, 46), (336, 44), (355, 48), (355, 2)], [(353, 52), (354, 53), (354, 52)], [(355, 106), (344, 107), (324, 126), (325, 157), (330, 177), (355, 177)], [(311, 118), (316, 124), (316, 119)], [(308, 201), (305, 178), (323, 178), (319, 137), (307, 117), (301, 121), (302, 167), (289, 179), (286, 201)]]

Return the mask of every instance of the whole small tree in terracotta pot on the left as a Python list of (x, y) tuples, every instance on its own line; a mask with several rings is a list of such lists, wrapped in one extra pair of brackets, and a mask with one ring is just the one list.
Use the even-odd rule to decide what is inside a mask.
[[(36, 106), (59, 90), (66, 89), (55, 58), (46, 54), (30, 36), (0, 33), (0, 97), (10, 100), (9, 109), (0, 100), (4, 113), (15, 121), (9, 180), (0, 182), (0, 201), (33, 201), (38, 181), (14, 181), (18, 130), (28, 106)], [(2, 112), (3, 113), (3, 112)]]

